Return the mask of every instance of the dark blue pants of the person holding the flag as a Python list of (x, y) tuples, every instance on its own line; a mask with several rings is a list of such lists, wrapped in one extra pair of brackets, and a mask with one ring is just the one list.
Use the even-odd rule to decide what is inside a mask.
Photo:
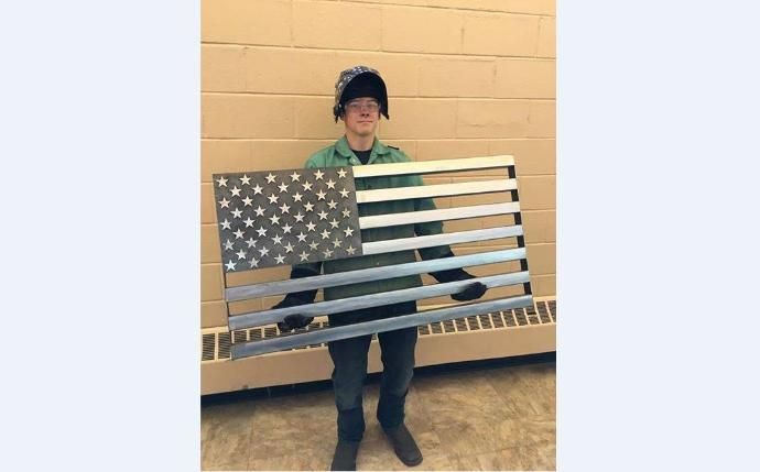
[[(381, 310), (381, 311), (378, 311)], [(365, 311), (365, 310), (362, 310)], [(387, 318), (416, 311), (413, 304), (366, 310), (367, 319)], [(333, 323), (330, 321), (330, 323)], [(377, 418), (390, 429), (404, 420), (404, 403), (414, 372), (416, 327), (378, 333), (382, 380)], [(335, 405), (338, 409), (338, 438), (360, 441), (365, 432), (362, 387), (367, 376), (367, 353), (371, 334), (328, 342), (333, 370)]]

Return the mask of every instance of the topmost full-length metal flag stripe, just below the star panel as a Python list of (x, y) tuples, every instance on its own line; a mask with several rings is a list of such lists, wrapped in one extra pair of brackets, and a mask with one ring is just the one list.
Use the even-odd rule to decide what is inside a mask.
[(447, 271), (449, 268), (467, 267), (470, 265), (515, 261), (525, 257), (526, 255), (524, 248), (479, 252), (476, 254), (457, 255), (454, 257), (436, 259), (432, 261), (408, 262), (404, 264), (386, 265), (382, 267), (360, 268), (357, 271), (340, 272), (336, 274), (315, 275), (313, 277), (264, 282), (261, 284), (231, 287), (227, 288), (225, 292), (225, 297), (227, 301), (239, 301), (254, 297), (264, 297), (268, 295), (312, 290), (315, 288), (346, 284), (358, 284), (361, 282), (403, 277), (406, 275), (424, 274), (436, 271)]

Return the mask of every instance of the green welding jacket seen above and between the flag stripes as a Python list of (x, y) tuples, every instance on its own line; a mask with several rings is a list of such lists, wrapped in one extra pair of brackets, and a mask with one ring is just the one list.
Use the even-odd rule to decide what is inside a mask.
[[(372, 164), (388, 164), (399, 162), (411, 162), (411, 160), (403, 153), (403, 151), (381, 143), (377, 138), (372, 145), (372, 153), (370, 154), (367, 165)], [(315, 167), (343, 167), (362, 165), (354, 152), (350, 150), (346, 136), (339, 139), (335, 144), (325, 147), (322, 151), (313, 154), (306, 161), (306, 168)], [(390, 187), (409, 187), (413, 185), (424, 185), (422, 177), (419, 175), (400, 175), (388, 177), (366, 177), (357, 178), (357, 190), (369, 190), (377, 188)], [(380, 213), (397, 213), (411, 212), (421, 210), (433, 210), (435, 204), (431, 198), (417, 198), (394, 201), (378, 201), (371, 204), (359, 205), (359, 216), (372, 216)], [(412, 238), (415, 235), (438, 234), (443, 232), (443, 223), (441, 221), (433, 221), (417, 224), (400, 224), (386, 228), (372, 228), (361, 230), (361, 241), (372, 242), (382, 241), (397, 238)], [(423, 260), (438, 259), (444, 254), (450, 252), (448, 245), (441, 245), (435, 248), (419, 249), (420, 256)], [(310, 264), (300, 264), (293, 268), (300, 267), (308, 272), (318, 274), (321, 268), (325, 274), (333, 274), (337, 272), (355, 271), (367, 267), (379, 267), (383, 265), (403, 264), (408, 262), (415, 262), (414, 250), (398, 251), (391, 253), (383, 253), (377, 255), (362, 255), (359, 257), (339, 259), (336, 261), (324, 261)], [(359, 295), (368, 295), (380, 292), (398, 290), (401, 288), (411, 288), (422, 286), (420, 275), (410, 275), (404, 277), (387, 278), (373, 282), (366, 282), (360, 284), (340, 285), (335, 287), (327, 287), (324, 289), (325, 300), (334, 300), (338, 298), (348, 298)]]

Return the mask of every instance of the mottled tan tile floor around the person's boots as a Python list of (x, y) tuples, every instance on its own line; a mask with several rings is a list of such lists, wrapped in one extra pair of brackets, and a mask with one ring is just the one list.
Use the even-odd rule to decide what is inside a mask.
[[(359, 470), (554, 470), (554, 353), (415, 371), (406, 425), (424, 455), (406, 468), (374, 419), (379, 377), (365, 388)], [(203, 470), (328, 470), (335, 448), (329, 382), (202, 399)]]

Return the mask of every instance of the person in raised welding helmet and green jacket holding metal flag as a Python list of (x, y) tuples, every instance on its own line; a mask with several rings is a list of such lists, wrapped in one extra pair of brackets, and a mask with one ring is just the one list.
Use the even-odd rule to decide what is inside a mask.
[[(306, 168), (373, 165), (386, 163), (410, 162), (410, 158), (398, 147), (380, 142), (376, 131), (381, 116), (389, 117), (388, 92), (380, 73), (366, 66), (356, 66), (340, 73), (335, 85), (335, 121), (343, 120), (345, 134), (335, 144), (313, 154), (305, 164)], [(423, 185), (419, 175), (357, 178), (356, 189), (408, 187)], [(362, 204), (359, 216), (409, 212), (435, 209), (430, 198), (408, 199)], [(441, 221), (403, 224), (387, 228), (361, 230), (361, 241), (380, 241), (414, 235), (436, 234), (443, 231)], [(419, 249), (423, 260), (450, 257), (454, 254), (449, 246)], [(291, 278), (308, 277), (324, 273), (354, 271), (390, 264), (415, 262), (413, 250), (398, 251), (377, 255), (362, 255), (334, 261), (294, 265)], [(431, 274), (437, 282), (453, 282), (474, 278), (462, 268), (441, 271)], [(357, 283), (324, 289), (325, 300), (397, 290), (422, 286), (420, 275), (395, 277), (367, 283)], [(487, 287), (474, 282), (464, 290), (452, 295), (452, 298), (464, 301), (479, 298)], [(287, 294), (273, 308), (284, 308), (311, 304), (316, 289)], [(328, 315), (329, 326), (369, 321), (374, 319), (402, 316), (416, 312), (416, 303), (406, 301), (381, 307)], [(282, 331), (303, 328), (313, 317), (290, 315), (279, 323)], [(333, 360), (333, 387), (337, 407), (338, 441), (330, 470), (356, 470), (356, 458), (365, 431), (362, 407), (362, 385), (367, 375), (367, 353), (371, 334), (328, 342)], [(383, 365), (380, 382), (380, 398), (377, 418), (389, 438), (399, 459), (406, 465), (422, 462), (422, 453), (404, 425), (404, 405), (414, 370), (414, 349), (416, 345), (416, 327), (378, 333)]]

